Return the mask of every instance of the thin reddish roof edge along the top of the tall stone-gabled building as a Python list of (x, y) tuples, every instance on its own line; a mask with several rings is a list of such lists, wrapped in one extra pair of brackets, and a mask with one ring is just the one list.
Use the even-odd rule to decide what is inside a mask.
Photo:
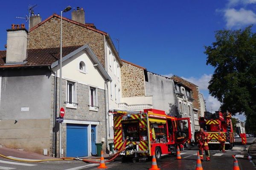
[[(60, 19), (61, 19), (61, 16), (60, 16), (60, 15), (58, 15), (58, 14), (52, 14), (52, 15), (51, 15), (50, 17), (48, 17), (46, 20), (42, 21), (41, 23), (38, 23), (38, 24), (35, 25), (33, 28), (30, 28), (30, 31), (35, 30), (36, 28), (38, 28), (38, 27), (41, 26), (42, 24), (46, 23), (48, 20), (52, 19), (53, 17), (57, 17), (57, 18), (60, 18)], [(78, 22), (76, 22), (76, 21), (74, 21), (74, 20), (70, 20), (70, 19), (68, 19), (68, 18), (66, 18), (66, 17), (62, 17), (62, 20), (68, 21), (68, 22), (70, 22), (70, 23), (76, 24), (76, 25), (78, 25), (78, 26), (82, 26), (82, 27), (84, 27), (84, 28), (88, 28), (88, 29), (90, 29), (90, 30), (92, 30), (92, 31), (95, 31), (95, 32), (98, 32), (98, 33), (100, 33), (100, 34), (105, 35), (105, 36), (106, 36), (106, 40), (107, 40), (108, 43), (110, 44), (110, 46), (111, 46), (111, 48), (112, 48), (112, 50), (113, 50), (113, 52), (114, 52), (114, 54), (115, 54), (115, 56), (116, 56), (116, 59), (119, 61), (120, 65), (122, 65), (121, 58), (119, 57), (119, 54), (118, 54), (118, 52), (116, 51), (116, 48), (115, 48), (115, 46), (114, 46), (114, 44), (113, 44), (113, 41), (111, 40), (111, 37), (110, 37), (110, 35), (109, 35), (108, 33), (104, 32), (104, 31), (101, 31), (101, 30), (99, 30), (99, 29), (96, 29), (96, 27), (95, 27), (94, 24), (92, 24), (92, 23), (85, 23), (85, 24), (82, 24), (82, 23), (78, 23)]]

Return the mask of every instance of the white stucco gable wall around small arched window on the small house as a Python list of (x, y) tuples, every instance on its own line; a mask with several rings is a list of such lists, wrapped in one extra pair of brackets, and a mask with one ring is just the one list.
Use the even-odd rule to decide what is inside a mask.
[[(85, 72), (79, 70), (79, 63), (81, 61), (85, 63)], [(105, 79), (97, 67), (93, 66), (94, 64), (85, 51), (80, 51), (62, 62), (62, 78), (95, 88), (105, 89)], [(59, 77), (59, 67), (56, 66), (52, 70), (57, 72), (57, 77)]]

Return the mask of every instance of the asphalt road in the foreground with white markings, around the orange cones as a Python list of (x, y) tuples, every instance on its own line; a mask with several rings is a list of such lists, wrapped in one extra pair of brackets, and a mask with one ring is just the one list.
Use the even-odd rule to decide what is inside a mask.
[[(195, 170), (197, 159), (196, 154), (197, 147), (194, 147), (192, 150), (184, 150), (181, 152), (181, 160), (176, 160), (175, 156), (163, 156), (163, 158), (157, 162), (157, 165), (161, 170)], [(228, 150), (227, 153), (221, 153), (218, 150), (211, 150), (210, 155), (211, 161), (202, 162), (204, 170), (232, 170), (232, 155), (236, 155), (239, 161), (240, 170), (256, 170), (253, 164), (247, 160), (247, 154), (242, 151), (241, 146), (235, 146), (233, 147), (233, 150)], [(121, 159), (116, 159), (116, 161), (108, 163), (106, 166), (111, 170), (148, 170), (148, 168), (151, 167), (151, 164), (151, 160), (122, 163)], [(99, 164), (87, 164), (81, 161), (61, 164), (29, 164), (26, 162), (14, 162), (6, 159), (0, 159), (0, 170), (99, 170), (96, 168), (98, 166)]]

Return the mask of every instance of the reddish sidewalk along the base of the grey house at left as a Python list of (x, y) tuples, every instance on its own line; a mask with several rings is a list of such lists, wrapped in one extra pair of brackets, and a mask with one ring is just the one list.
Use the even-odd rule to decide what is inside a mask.
[[(51, 157), (51, 156), (44, 156), (44, 155), (40, 155), (38, 153), (31, 153), (31, 152), (26, 152), (23, 150), (17, 150), (17, 149), (9, 149), (6, 147), (1, 147), (0, 146), (0, 155), (3, 156), (8, 156), (8, 157), (15, 157), (15, 159), (32, 159), (32, 160), (44, 160), (44, 159), (58, 159), (55, 157)], [(104, 158), (109, 157), (109, 154), (103, 154)], [(0, 156), (0, 159), (5, 159), (3, 157)], [(100, 159), (100, 157), (96, 157), (96, 156), (88, 156), (88, 157), (83, 157), (83, 159)], [(60, 161), (60, 160), (56, 160), (56, 161), (43, 161), (42, 163), (71, 163), (74, 162), (76, 160), (64, 160), (64, 161)], [(82, 162), (82, 161), (79, 161)]]

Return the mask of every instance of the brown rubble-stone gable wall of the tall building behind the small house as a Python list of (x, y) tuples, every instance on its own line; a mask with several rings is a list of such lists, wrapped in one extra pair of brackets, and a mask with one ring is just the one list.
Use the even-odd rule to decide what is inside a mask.
[[(60, 47), (61, 19), (53, 17), (30, 32), (29, 49)], [(62, 20), (62, 46), (88, 44), (105, 68), (104, 36)]]

